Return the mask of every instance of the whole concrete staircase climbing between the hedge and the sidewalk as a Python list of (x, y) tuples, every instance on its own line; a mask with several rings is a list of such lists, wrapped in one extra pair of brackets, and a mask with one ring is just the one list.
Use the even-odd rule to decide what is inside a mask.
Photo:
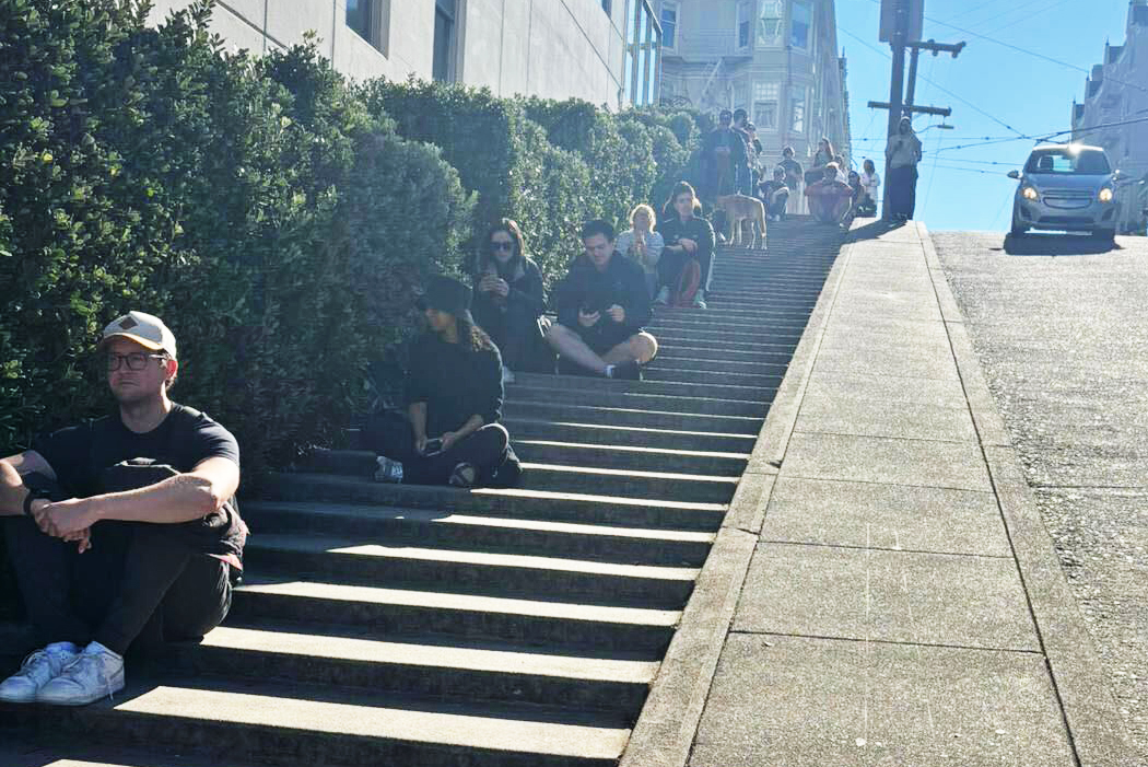
[(37, 764), (616, 764), (839, 245), (791, 220), (720, 253), (644, 381), (519, 375), (521, 488), (378, 485), (348, 451), (278, 475), (225, 626), (0, 728)]

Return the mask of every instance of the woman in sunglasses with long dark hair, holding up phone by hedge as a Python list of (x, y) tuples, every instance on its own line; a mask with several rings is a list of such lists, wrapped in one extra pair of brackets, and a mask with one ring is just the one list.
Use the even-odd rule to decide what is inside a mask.
[(502, 354), (503, 384), (525, 370), (532, 342), (540, 339), (538, 318), (546, 310), (542, 272), (526, 255), (522, 231), (503, 218), (487, 233), (474, 273), (474, 321)]

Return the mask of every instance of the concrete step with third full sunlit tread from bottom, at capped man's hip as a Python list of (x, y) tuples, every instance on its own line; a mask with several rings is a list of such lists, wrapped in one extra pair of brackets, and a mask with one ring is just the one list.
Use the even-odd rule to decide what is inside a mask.
[(369, 628), (402, 641), (434, 635), (554, 652), (656, 660), (681, 614), (674, 610), (420, 591), (249, 576), (233, 592), (228, 623), (289, 621)]

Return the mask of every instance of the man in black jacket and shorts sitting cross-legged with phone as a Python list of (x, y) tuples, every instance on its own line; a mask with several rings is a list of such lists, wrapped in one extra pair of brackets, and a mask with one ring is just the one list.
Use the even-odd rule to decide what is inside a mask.
[(641, 366), (658, 354), (658, 342), (642, 330), (652, 317), (650, 293), (642, 266), (618, 255), (614, 240), (607, 222), (582, 226), (585, 254), (554, 289), (558, 321), (546, 341), (563, 370), (574, 372), (573, 365), (606, 378), (639, 379)]

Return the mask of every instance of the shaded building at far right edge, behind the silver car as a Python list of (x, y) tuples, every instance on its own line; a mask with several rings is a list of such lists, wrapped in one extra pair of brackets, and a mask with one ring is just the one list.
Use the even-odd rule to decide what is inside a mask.
[(1072, 139), (1103, 147), (1124, 176), (1118, 231), (1143, 232), (1148, 206), (1148, 0), (1131, 0), (1124, 45), (1104, 44), (1103, 63), (1072, 104)]

